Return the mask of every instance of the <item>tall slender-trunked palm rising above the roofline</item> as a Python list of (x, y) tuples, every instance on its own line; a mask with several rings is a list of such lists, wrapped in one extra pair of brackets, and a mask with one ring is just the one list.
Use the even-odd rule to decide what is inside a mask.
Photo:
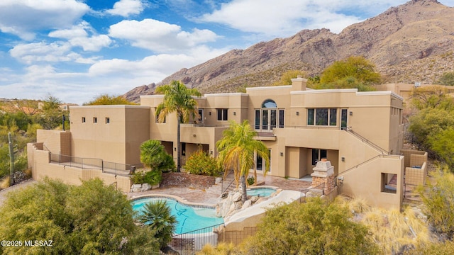
[(170, 84), (158, 86), (156, 94), (164, 94), (164, 100), (157, 106), (156, 115), (159, 122), (165, 121), (165, 116), (177, 113), (177, 171), (181, 171), (181, 146), (179, 145), (179, 126), (197, 114), (197, 101), (193, 96), (201, 96), (196, 89), (188, 89), (181, 81), (172, 81)]

